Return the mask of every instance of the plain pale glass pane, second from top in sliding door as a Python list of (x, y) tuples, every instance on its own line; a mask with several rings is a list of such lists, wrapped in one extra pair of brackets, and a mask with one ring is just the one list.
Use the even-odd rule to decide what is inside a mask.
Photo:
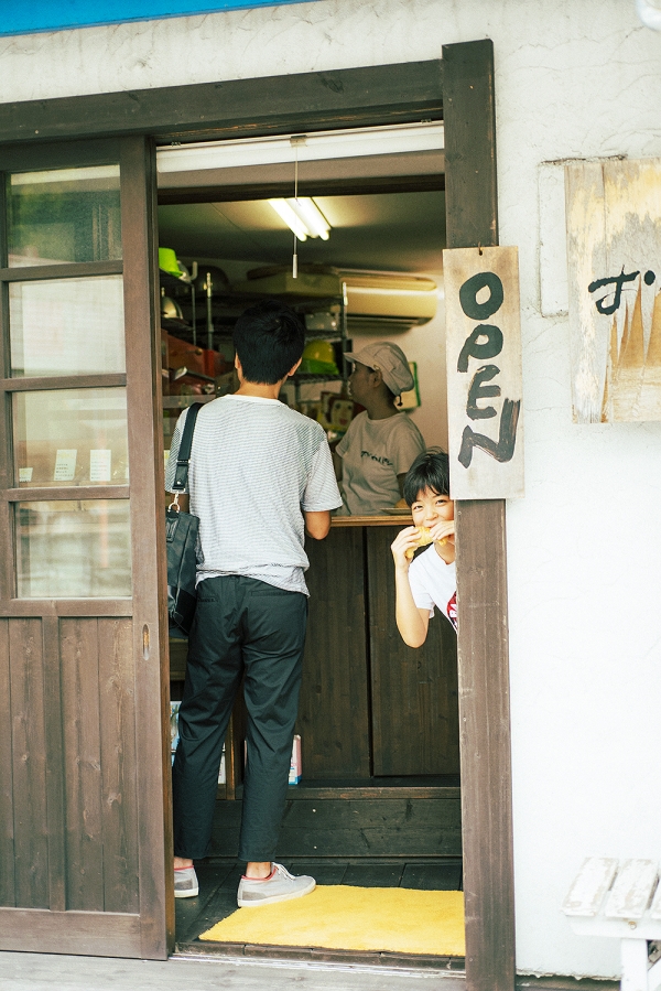
[(11, 374), (126, 370), (121, 276), (12, 282)]

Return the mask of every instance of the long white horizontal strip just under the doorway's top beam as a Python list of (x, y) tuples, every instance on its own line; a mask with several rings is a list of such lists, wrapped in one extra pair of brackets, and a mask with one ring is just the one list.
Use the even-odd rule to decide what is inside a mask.
[(245, 165), (274, 165), (414, 151), (443, 151), (443, 123), (397, 123), (382, 128), (347, 128), (278, 138), (245, 138), (231, 141), (201, 141), (164, 146), (156, 150), (156, 168), (164, 172), (195, 172), (201, 169), (236, 169)]

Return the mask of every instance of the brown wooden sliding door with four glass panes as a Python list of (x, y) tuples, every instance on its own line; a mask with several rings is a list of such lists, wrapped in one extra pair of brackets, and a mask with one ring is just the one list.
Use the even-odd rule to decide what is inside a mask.
[(164, 958), (152, 151), (0, 169), (0, 948)]

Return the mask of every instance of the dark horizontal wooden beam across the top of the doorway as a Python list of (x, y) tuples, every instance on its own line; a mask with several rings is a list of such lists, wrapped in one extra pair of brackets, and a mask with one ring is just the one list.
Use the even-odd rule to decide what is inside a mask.
[(442, 117), (441, 61), (166, 86), (0, 105), (0, 144), (149, 134), (259, 137)]

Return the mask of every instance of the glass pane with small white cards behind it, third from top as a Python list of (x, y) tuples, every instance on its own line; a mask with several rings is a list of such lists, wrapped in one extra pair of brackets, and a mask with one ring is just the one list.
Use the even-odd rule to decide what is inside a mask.
[(14, 392), (12, 401), (21, 487), (127, 484), (126, 389)]

